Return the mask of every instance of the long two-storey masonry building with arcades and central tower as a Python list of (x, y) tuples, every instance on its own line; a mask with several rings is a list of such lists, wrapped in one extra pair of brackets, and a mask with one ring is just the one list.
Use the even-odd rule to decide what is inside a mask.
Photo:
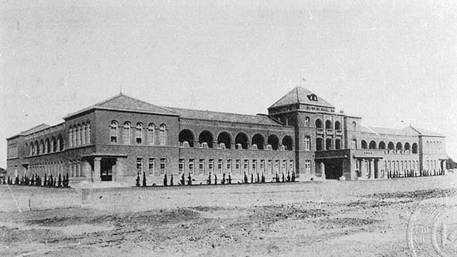
[(305, 88), (291, 90), (268, 115), (160, 107), (120, 94), (7, 139), (10, 177), (69, 174), (78, 182), (148, 184), (164, 174), (191, 174), (205, 183), (211, 173), (232, 183), (244, 174), (296, 174), (307, 179), (381, 179), (398, 172), (446, 168), (445, 137), (417, 127), (401, 130), (362, 125), (361, 117), (335, 107)]

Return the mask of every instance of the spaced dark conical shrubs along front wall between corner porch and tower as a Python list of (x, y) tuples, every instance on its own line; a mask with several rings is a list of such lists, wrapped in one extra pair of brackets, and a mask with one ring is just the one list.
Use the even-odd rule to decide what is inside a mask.
[[(220, 184), (231, 184), (231, 174), (229, 173), (229, 175), (227, 176), (228, 178), (226, 178), (226, 174), (222, 174), (222, 179), (220, 181)], [(171, 178), (170, 178), (170, 182), (168, 181), (168, 177), (166, 174), (164, 174), (164, 187), (168, 187), (168, 186), (174, 186), (174, 177), (173, 177), (173, 174), (171, 174)], [(286, 175), (283, 173), (282, 174), (282, 178), (279, 179), (279, 175), (276, 173), (276, 177), (273, 177), (273, 179), (271, 179), (271, 182), (295, 182), (295, 172), (287, 172), (287, 177)], [(143, 172), (143, 181), (142, 183), (140, 184), (140, 174), (138, 173), (136, 175), (136, 187), (146, 187), (146, 172)], [(209, 173), (209, 176), (208, 176), (208, 179), (206, 179), (206, 184), (218, 184), (218, 179), (217, 179), (217, 174), (214, 174), (214, 182), (211, 182), (212, 178), (211, 178), (211, 172)], [(187, 185), (191, 185), (192, 182), (195, 181), (195, 179), (192, 179), (192, 176), (191, 174), (189, 173), (189, 176), (187, 176)], [(248, 181), (248, 176), (246, 174), (246, 172), (244, 172), (244, 177), (243, 177), (243, 183), (244, 184), (249, 184), (249, 181)], [(264, 174), (258, 174), (257, 173), (257, 176), (256, 176), (256, 179), (254, 180), (254, 175), (253, 173), (251, 173), (251, 184), (253, 183), (266, 183), (265, 181), (265, 175)], [(238, 184), (240, 184), (238, 182)], [(155, 186), (156, 184), (152, 184), (153, 186)], [(179, 181), (178, 183), (179, 186), (184, 186), (186, 185), (186, 179), (184, 177), (184, 173), (181, 174), (181, 180)]]

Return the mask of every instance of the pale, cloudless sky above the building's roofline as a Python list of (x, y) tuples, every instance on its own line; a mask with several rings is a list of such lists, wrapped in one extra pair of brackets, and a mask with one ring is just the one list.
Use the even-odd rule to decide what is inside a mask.
[(6, 137), (121, 85), (154, 105), (244, 114), (301, 85), (365, 125), (440, 132), (457, 159), (457, 2), (0, 3), (0, 167)]

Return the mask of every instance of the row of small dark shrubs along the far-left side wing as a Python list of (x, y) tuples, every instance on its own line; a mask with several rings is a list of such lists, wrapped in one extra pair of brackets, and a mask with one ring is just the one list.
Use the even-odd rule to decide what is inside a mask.
[(49, 177), (44, 174), (44, 179), (38, 174), (32, 174), (31, 178), (24, 175), (21, 178), (16, 177), (14, 181), (8, 176), (6, 181), (5, 178), (3, 179), (3, 184), (34, 187), (70, 187), (68, 173), (63, 177), (59, 174), (58, 178), (54, 177), (52, 174)]

